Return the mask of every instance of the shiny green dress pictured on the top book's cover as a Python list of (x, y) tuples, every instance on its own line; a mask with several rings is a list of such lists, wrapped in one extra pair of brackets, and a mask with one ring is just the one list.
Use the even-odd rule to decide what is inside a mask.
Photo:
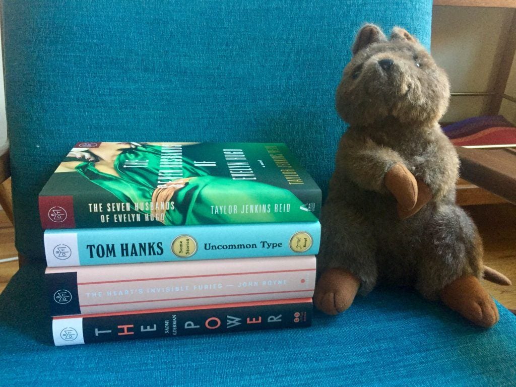
[[(159, 216), (158, 221), (165, 225), (245, 223), (248, 214), (242, 214), (240, 208), (246, 205), (259, 204), (260, 208), (270, 208), (270, 212), (253, 213), (253, 222), (291, 222), (315, 221), (316, 217), (307, 211), (299, 211), (303, 203), (291, 191), (247, 180), (233, 180), (229, 177), (210, 175), (208, 170), (193, 163), (183, 156), (183, 179), (173, 189), (159, 190), (157, 187), (158, 172), (162, 147), (142, 144), (136, 148), (124, 149), (116, 157), (114, 168), (120, 177), (100, 172), (94, 162), (83, 162), (75, 170), (89, 181), (99, 185), (115, 195), (119, 200), (131, 203), (154, 203), (156, 200), (173, 203), (168, 209), (159, 211), (141, 208), (142, 214)], [(145, 168), (126, 168), (127, 162), (148, 160)], [(168, 196), (167, 194), (171, 192)], [(291, 211), (275, 212), (275, 204), (289, 202)], [(214, 215), (215, 206), (226, 203), (237, 212), (229, 213), (227, 209)], [(295, 208), (293, 208), (295, 207)], [(292, 209), (294, 211), (292, 211)]]

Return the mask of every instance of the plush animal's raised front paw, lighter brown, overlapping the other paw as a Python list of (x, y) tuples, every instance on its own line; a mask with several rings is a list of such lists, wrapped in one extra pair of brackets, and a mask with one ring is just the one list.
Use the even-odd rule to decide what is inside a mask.
[(395, 164), (383, 179), (385, 188), (398, 202), (398, 211), (410, 211), (417, 202), (417, 182), (414, 175), (401, 163)]

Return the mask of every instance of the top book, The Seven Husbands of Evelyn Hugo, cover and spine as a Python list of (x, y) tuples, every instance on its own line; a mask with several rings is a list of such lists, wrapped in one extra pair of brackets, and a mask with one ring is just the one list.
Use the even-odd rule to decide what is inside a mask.
[(282, 143), (79, 142), (39, 195), (43, 229), (315, 221)]

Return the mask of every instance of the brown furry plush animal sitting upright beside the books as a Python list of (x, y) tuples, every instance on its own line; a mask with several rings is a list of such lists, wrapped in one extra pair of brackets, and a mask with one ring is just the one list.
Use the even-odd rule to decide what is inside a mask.
[(482, 265), (472, 220), (455, 204), (459, 159), (438, 120), (446, 74), (406, 30), (390, 39), (365, 25), (336, 91), (349, 123), (322, 211), (314, 302), (337, 314), (380, 280), (414, 286), (482, 327), (498, 310), (479, 278), (508, 280)]

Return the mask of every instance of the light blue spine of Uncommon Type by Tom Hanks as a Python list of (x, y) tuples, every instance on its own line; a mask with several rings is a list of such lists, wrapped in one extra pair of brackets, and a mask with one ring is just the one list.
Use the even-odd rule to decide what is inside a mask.
[(44, 233), (50, 267), (314, 255), (319, 242), (318, 221)]

